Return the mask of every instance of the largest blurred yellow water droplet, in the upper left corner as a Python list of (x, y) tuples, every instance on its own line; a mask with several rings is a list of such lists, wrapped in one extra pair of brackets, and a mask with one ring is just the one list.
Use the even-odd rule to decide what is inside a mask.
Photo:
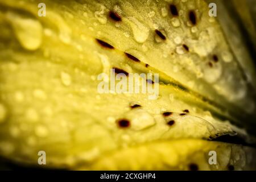
[(24, 18), (14, 13), (7, 13), (7, 19), (14, 28), (16, 38), (21, 46), (28, 50), (36, 50), (42, 43), (42, 24), (32, 18)]

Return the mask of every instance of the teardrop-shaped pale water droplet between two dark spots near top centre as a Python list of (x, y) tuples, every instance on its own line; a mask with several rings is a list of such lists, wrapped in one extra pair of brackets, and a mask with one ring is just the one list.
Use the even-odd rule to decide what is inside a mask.
[(134, 17), (128, 17), (127, 21), (129, 22), (131, 29), (133, 30), (134, 39), (138, 43), (143, 43), (147, 40), (150, 29), (144, 26), (143, 23), (139, 22)]

